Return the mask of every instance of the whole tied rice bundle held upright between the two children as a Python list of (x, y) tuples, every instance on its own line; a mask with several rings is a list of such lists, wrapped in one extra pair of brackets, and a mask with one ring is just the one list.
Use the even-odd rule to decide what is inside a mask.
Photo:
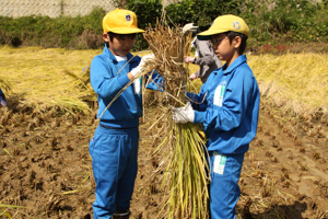
[(184, 55), (190, 53), (191, 38), (184, 37), (178, 27), (171, 28), (160, 23), (143, 36), (154, 54), (154, 59), (148, 62), (144, 71), (155, 69), (164, 78), (163, 95), (167, 102), (160, 118), (166, 124), (161, 129), (166, 137), (155, 151), (163, 154), (164, 149), (169, 149), (163, 180), (168, 198), (163, 207), (168, 206), (168, 218), (208, 218), (209, 177), (201, 128), (191, 123), (175, 124), (171, 119), (171, 107), (185, 105), (186, 102), (188, 76), (184, 68)]

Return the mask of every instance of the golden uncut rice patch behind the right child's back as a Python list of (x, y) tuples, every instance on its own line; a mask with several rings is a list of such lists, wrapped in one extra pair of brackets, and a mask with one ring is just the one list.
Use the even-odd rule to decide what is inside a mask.
[(261, 96), (297, 115), (328, 114), (328, 55), (248, 56)]

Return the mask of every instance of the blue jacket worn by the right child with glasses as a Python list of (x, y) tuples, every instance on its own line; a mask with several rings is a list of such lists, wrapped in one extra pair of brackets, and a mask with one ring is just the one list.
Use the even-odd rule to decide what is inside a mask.
[[(245, 153), (257, 130), (260, 94), (245, 55), (214, 70), (199, 94), (187, 93), (195, 124), (202, 124), (209, 151)], [(225, 69), (225, 70), (224, 70)]]

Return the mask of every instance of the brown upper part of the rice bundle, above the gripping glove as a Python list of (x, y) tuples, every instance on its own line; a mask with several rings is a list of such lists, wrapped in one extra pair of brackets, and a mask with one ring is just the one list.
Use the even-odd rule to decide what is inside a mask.
[[(160, 23), (155, 28), (143, 34), (154, 54), (154, 59), (148, 61), (144, 72), (156, 70), (165, 80), (164, 90), (171, 97), (176, 97), (171, 104), (184, 104), (187, 72), (184, 68), (184, 54), (188, 49), (185, 39), (177, 30), (165, 27)], [(189, 42), (187, 39), (187, 42)]]

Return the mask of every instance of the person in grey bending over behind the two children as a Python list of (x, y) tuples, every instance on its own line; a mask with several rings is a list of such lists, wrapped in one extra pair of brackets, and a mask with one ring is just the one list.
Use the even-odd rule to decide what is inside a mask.
[(185, 57), (185, 61), (187, 64), (196, 64), (199, 66), (199, 70), (192, 73), (189, 79), (195, 80), (200, 78), (201, 82), (204, 83), (210, 73), (222, 67), (221, 61), (215, 56), (212, 46), (209, 41), (199, 41), (196, 35), (199, 33), (199, 27), (195, 23), (188, 23), (184, 26), (183, 33), (191, 34), (194, 38), (191, 43), (191, 48), (195, 47), (195, 57), (187, 56)]

